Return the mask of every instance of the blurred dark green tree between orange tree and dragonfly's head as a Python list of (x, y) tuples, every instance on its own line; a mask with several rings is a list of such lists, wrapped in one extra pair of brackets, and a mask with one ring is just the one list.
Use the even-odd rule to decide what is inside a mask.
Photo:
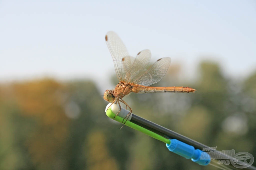
[[(65, 113), (72, 119), (67, 138), (66, 156), (68, 169), (85, 169), (84, 142), (88, 133), (95, 127), (103, 129), (104, 101), (95, 84), (90, 81), (72, 81), (66, 83), (69, 98)], [(71, 106), (71, 107), (70, 107)], [(76, 110), (77, 116), (72, 116)]]

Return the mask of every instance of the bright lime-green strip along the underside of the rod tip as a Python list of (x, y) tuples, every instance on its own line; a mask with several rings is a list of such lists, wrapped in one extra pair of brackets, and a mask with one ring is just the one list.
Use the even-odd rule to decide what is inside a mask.
[[(114, 118), (115, 114), (112, 112), (111, 107), (106, 111), (106, 115), (107, 115), (108, 117), (110, 117), (111, 119)], [(115, 120), (115, 121), (118, 121), (118, 122), (120, 122), (120, 123), (122, 123), (123, 118), (122, 118), (122, 117), (119, 117), (119, 116), (117, 115), (114, 120)], [(124, 122), (125, 122), (125, 121), (124, 121)], [(123, 122), (123, 123), (124, 123), (124, 122)], [(157, 139), (157, 140), (160, 140), (160, 141), (162, 141), (162, 142), (167, 143), (168, 145), (170, 145), (170, 140), (169, 140), (169, 139), (166, 139), (166, 138), (164, 138), (164, 137), (161, 136), (161, 135), (158, 135), (158, 134), (156, 134), (156, 133), (154, 133), (154, 132), (152, 132), (152, 131), (150, 131), (150, 130), (148, 130), (148, 129), (145, 129), (144, 127), (141, 127), (141, 126), (139, 126), (139, 125), (136, 125), (136, 124), (134, 124), (134, 123), (132, 123), (132, 122), (130, 122), (130, 121), (126, 121), (125, 125), (126, 125), (126, 126), (129, 126), (129, 127), (131, 127), (131, 128), (133, 128), (133, 129), (135, 129), (135, 130), (138, 130), (138, 131), (140, 131), (140, 132), (142, 132), (142, 133), (144, 133), (144, 134), (146, 134), (146, 135), (148, 135), (148, 136), (151, 136), (152, 138), (155, 138), (155, 139)]]

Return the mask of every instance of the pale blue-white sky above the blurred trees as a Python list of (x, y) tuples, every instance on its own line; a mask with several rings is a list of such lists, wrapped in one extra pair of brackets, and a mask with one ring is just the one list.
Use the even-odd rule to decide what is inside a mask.
[(108, 81), (114, 74), (105, 34), (115, 31), (129, 54), (195, 76), (201, 60), (225, 75), (256, 70), (256, 1), (0, 0), (0, 82), (44, 76)]

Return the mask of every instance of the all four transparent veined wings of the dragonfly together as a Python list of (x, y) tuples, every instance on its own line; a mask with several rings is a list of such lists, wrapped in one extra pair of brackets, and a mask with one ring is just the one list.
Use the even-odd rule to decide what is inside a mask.
[(124, 43), (115, 32), (109, 31), (105, 38), (120, 82), (149, 86), (160, 81), (166, 74), (171, 61), (169, 57), (157, 60), (150, 69), (146, 70), (151, 58), (150, 50), (141, 51), (134, 59), (129, 56)]

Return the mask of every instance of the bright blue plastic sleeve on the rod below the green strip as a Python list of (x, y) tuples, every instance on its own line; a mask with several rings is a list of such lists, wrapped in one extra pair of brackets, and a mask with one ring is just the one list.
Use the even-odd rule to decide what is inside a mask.
[(183, 156), (186, 159), (191, 159), (199, 165), (206, 166), (211, 162), (211, 156), (208, 153), (203, 152), (200, 149), (195, 149), (193, 146), (177, 139), (170, 139), (170, 141), (170, 144), (166, 143), (166, 147), (169, 149), (169, 151)]

